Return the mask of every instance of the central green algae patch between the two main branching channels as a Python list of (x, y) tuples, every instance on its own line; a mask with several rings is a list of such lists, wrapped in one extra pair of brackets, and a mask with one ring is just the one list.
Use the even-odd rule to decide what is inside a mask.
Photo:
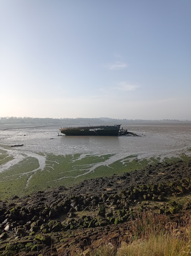
[[(88, 179), (87, 173), (91, 167), (98, 163), (103, 163), (112, 155), (87, 155), (80, 158), (76, 155), (47, 155), (46, 166), (43, 171), (38, 170), (30, 179), (28, 189), (46, 189), (47, 187), (57, 187), (60, 185), (70, 186), (84, 179)], [(79, 177), (77, 177), (79, 176)], [(93, 178), (93, 177), (91, 177)], [(36, 190), (35, 189), (35, 190)]]

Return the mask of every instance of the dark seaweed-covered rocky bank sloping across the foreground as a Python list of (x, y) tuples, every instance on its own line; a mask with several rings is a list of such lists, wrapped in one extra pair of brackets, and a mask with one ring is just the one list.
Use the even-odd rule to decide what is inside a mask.
[[(179, 222), (191, 209), (191, 161), (158, 163), (121, 176), (83, 181), (0, 201), (0, 255), (61, 255), (130, 241), (138, 212)], [(48, 255), (48, 254), (47, 254)]]

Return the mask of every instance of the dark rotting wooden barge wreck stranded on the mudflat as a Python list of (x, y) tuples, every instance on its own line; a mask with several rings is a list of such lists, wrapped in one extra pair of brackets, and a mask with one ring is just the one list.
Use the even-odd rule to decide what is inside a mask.
[(121, 125), (100, 125), (100, 126), (83, 126), (83, 127), (65, 127), (60, 132), (66, 136), (120, 136), (133, 135), (134, 133), (120, 129)]

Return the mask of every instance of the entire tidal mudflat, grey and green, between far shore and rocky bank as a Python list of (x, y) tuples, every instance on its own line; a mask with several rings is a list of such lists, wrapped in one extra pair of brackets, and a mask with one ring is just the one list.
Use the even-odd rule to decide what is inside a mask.
[[(35, 190), (38, 188), (38, 180), (39, 188), (43, 182), (45, 186), (57, 186), (58, 182), (60, 182), (59, 185), (66, 185), (69, 179), (79, 177), (87, 179), (90, 177), (87, 175), (94, 172), (97, 172), (95, 177), (100, 176), (108, 168), (111, 173), (118, 172), (118, 168), (126, 166), (126, 157), (130, 155), (134, 157), (129, 158), (129, 161), (135, 159), (136, 155), (139, 159), (149, 159), (150, 163), (151, 157), (159, 157), (162, 160), (165, 157), (170, 158), (185, 153), (191, 156), (191, 151), (188, 151), (191, 148), (191, 124), (123, 125), (124, 129), (137, 133), (139, 135), (137, 137), (58, 136), (59, 128), (58, 125), (36, 127), (34, 125), (0, 125), (0, 149), (4, 149), (4, 153), (13, 158), (5, 164), (0, 164), (0, 182), (7, 184), (4, 190), (7, 188), (9, 193), (13, 193), (10, 191), (18, 188), (23, 191), (26, 188)], [(11, 147), (17, 144), (24, 144), (24, 146)], [(69, 162), (63, 162), (63, 158), (59, 157), (59, 155), (74, 154), (78, 155), (67, 158)], [(94, 160), (96, 155), (97, 161)], [(104, 160), (103, 155), (106, 156)], [(88, 161), (87, 156), (92, 157), (91, 162)], [(29, 157), (33, 160), (27, 162)], [(34, 159), (38, 165), (31, 169), (30, 164)], [(118, 160), (122, 164), (118, 165), (117, 169), (111, 167), (111, 164)], [(23, 161), (28, 164), (23, 165)], [(77, 166), (76, 161), (78, 161)], [(137, 164), (139, 165), (138, 162)], [(99, 173), (100, 167), (101, 173)], [(109, 175), (111, 173), (109, 171)], [(21, 180), (23, 187), (20, 183), (17, 184), (18, 180)], [(14, 188), (13, 185), (9, 187), (9, 181)]]

